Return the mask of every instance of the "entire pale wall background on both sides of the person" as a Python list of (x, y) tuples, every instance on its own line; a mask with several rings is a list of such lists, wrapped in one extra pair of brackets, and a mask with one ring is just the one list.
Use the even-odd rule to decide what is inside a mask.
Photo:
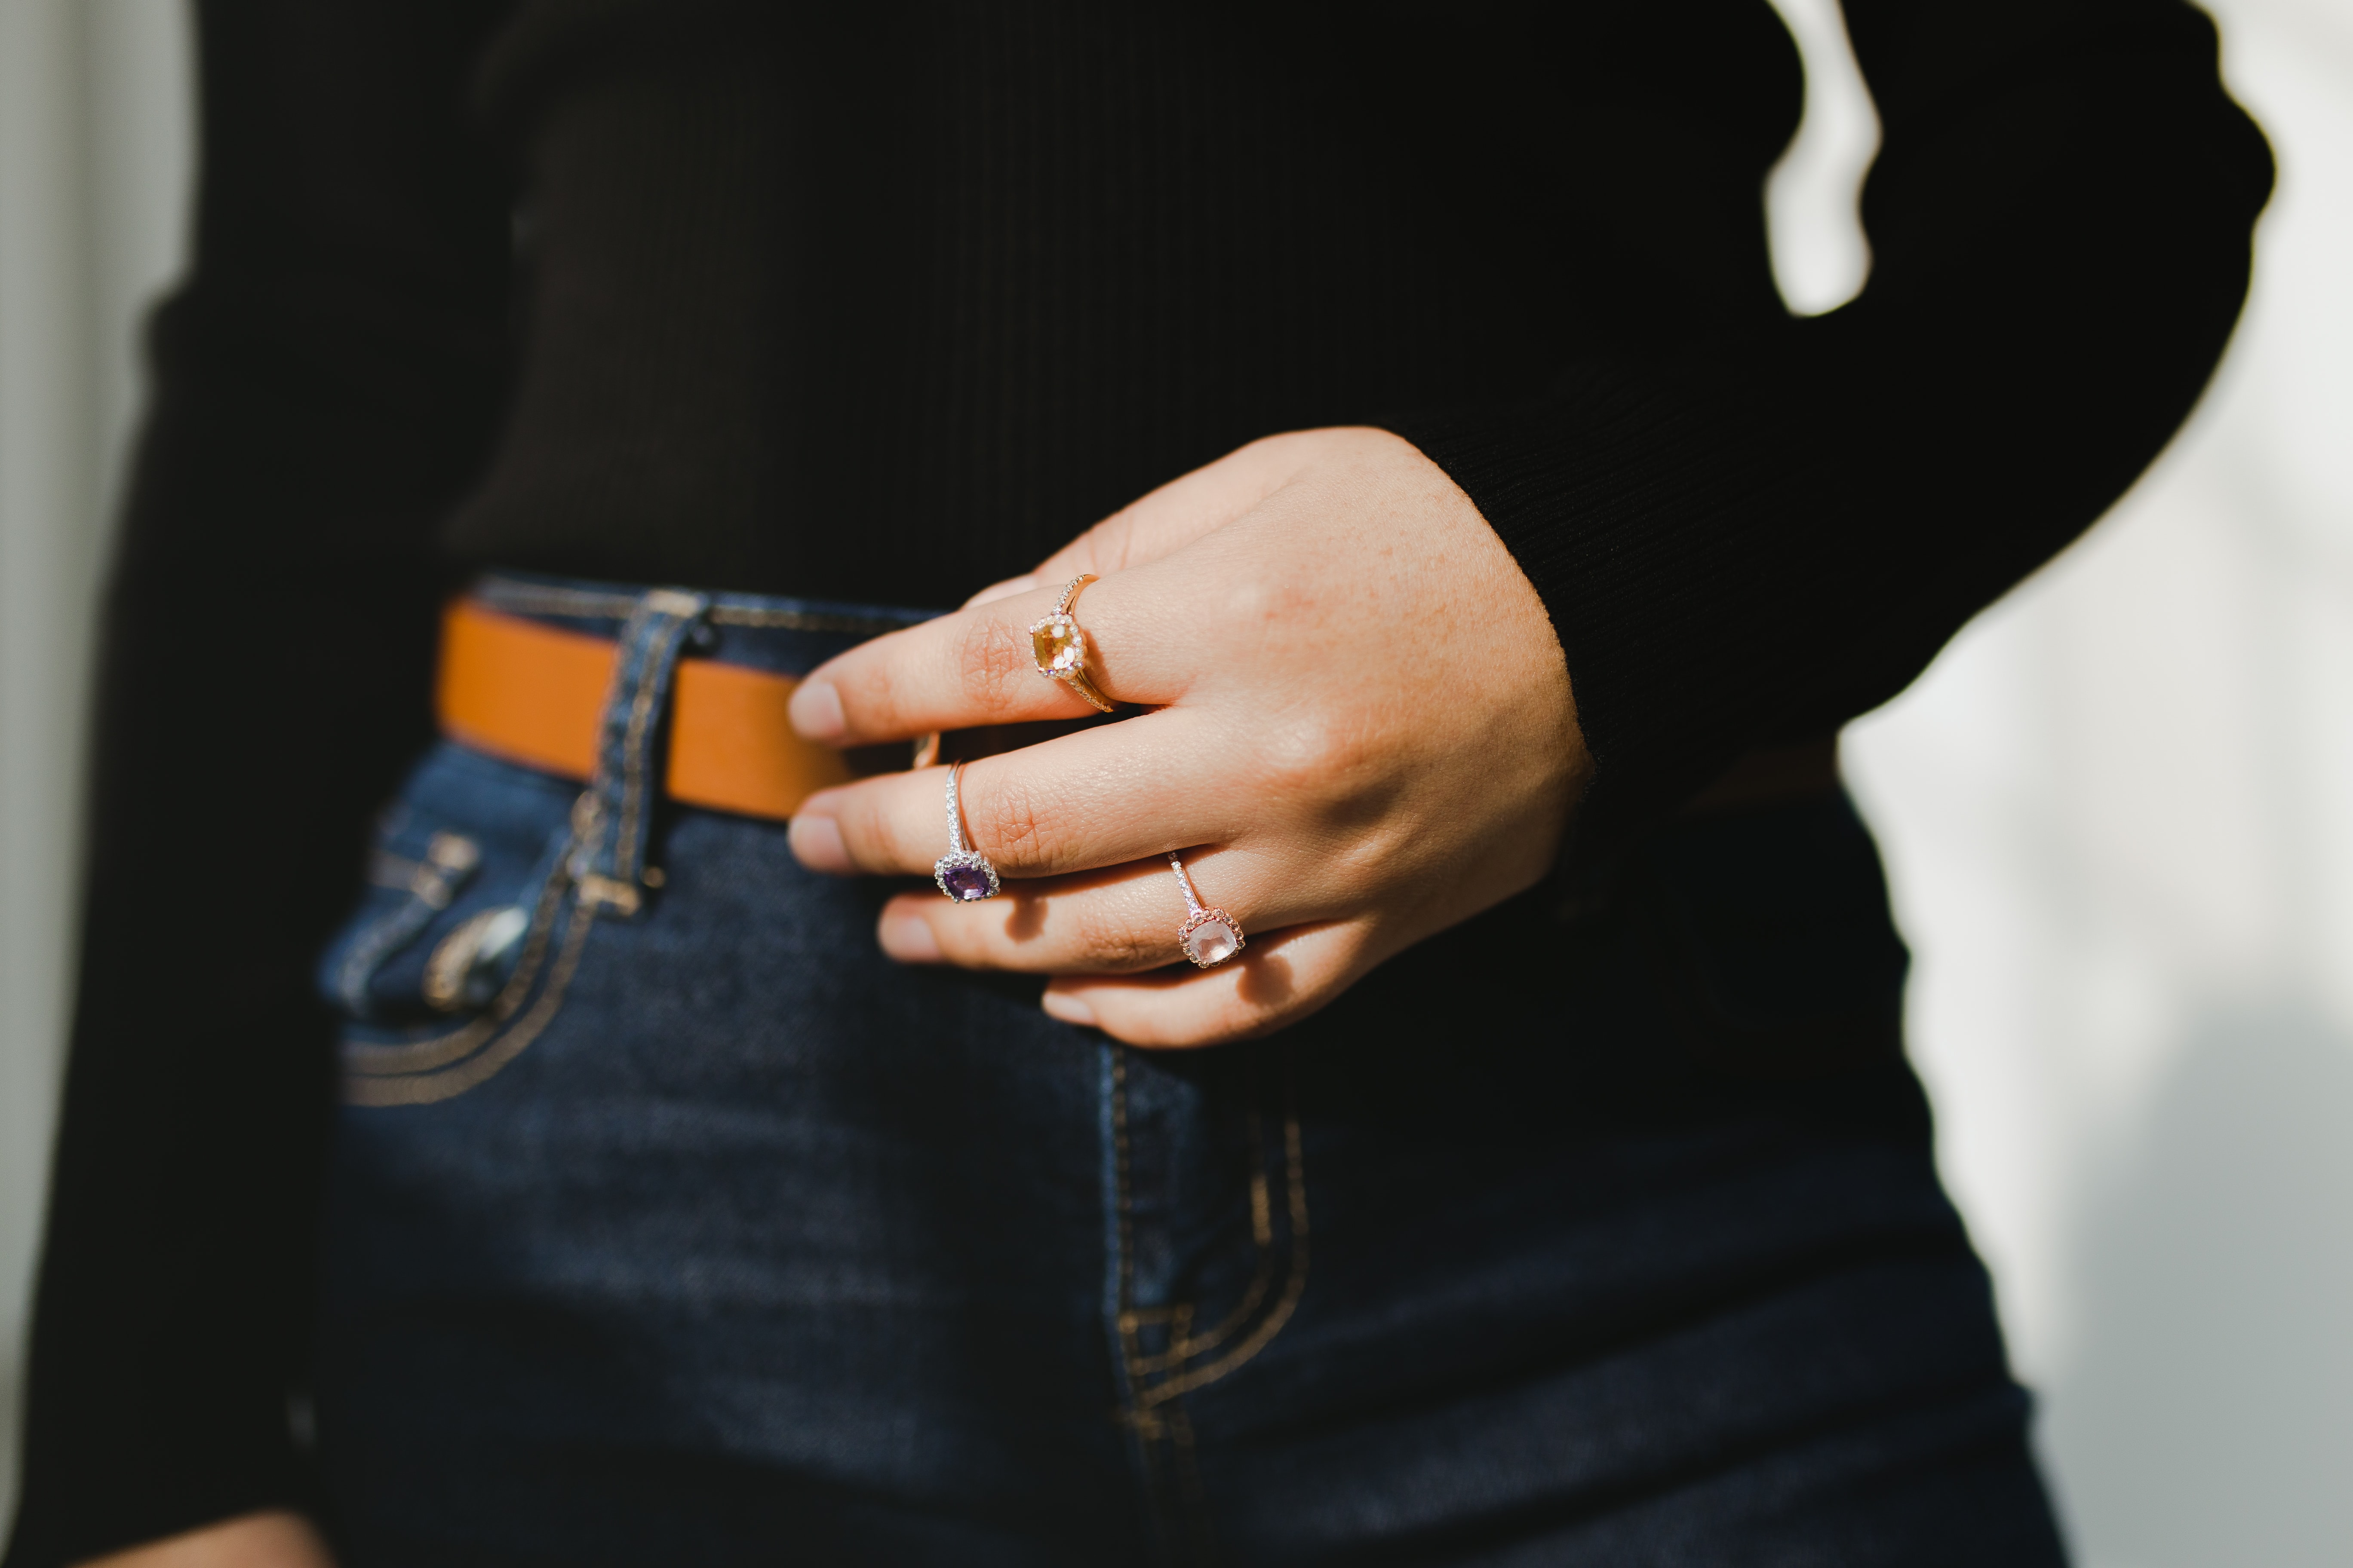
[[(1861, 277), (1873, 125), (1835, 0), (1779, 2), (1814, 101), (1777, 266), (1819, 310)], [(1920, 954), (1946, 1175), (2087, 1568), (2353, 1561), (2353, 0), (2217, 9), (2282, 165), (2231, 364), (2115, 517), (1847, 745)], [(181, 240), (184, 49), (174, 0), (0, 0), (0, 1345), (132, 324)]]

